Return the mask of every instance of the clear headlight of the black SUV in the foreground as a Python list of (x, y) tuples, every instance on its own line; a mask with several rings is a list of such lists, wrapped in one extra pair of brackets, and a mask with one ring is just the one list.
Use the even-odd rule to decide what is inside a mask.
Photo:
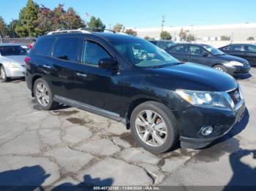
[(181, 98), (195, 106), (234, 109), (232, 99), (226, 92), (203, 92), (193, 90), (176, 90)]

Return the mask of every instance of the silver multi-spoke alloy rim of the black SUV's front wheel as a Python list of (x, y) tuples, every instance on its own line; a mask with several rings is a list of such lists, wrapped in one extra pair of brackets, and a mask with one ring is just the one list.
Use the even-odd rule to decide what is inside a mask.
[(160, 147), (167, 139), (167, 127), (162, 117), (151, 110), (138, 114), (135, 121), (140, 139), (151, 147)]

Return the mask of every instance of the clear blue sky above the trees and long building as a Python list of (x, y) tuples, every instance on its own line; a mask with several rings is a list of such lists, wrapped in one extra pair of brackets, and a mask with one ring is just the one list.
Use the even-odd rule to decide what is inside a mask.
[[(99, 17), (107, 28), (116, 23), (126, 27), (198, 26), (230, 23), (256, 23), (255, 0), (34, 0), (54, 8), (73, 7), (86, 20), (85, 13)], [(26, 0), (0, 0), (0, 16), (9, 23), (17, 19)]]

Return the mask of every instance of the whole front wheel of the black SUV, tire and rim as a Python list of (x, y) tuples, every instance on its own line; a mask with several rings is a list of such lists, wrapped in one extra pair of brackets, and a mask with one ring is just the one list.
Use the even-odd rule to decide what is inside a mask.
[[(158, 117), (156, 117), (156, 114), (158, 115)], [(148, 120), (147, 116), (151, 116), (149, 117), (149, 119), (151, 119), (151, 122), (148, 122), (148, 124), (151, 124), (151, 127), (150, 125), (144, 127), (146, 123), (144, 120), (141, 120), (141, 116), (147, 122), (150, 121)], [(141, 122), (143, 123), (141, 124)], [(134, 137), (135, 141), (137, 141), (141, 147), (148, 150), (149, 152), (166, 152), (170, 148), (174, 147), (176, 145), (176, 142), (178, 141), (178, 128), (176, 126), (175, 117), (171, 113), (170, 109), (168, 109), (164, 104), (161, 104), (159, 102), (147, 101), (137, 106), (133, 110), (130, 117), (130, 124), (132, 136)], [(165, 128), (160, 128), (164, 126)], [(161, 132), (159, 132), (159, 130), (161, 130)], [(147, 133), (149, 132), (147, 134), (148, 138), (146, 139), (146, 141), (143, 141), (143, 138), (146, 137), (146, 133), (143, 134), (142, 132), (146, 131)], [(159, 138), (162, 141), (159, 141)]]

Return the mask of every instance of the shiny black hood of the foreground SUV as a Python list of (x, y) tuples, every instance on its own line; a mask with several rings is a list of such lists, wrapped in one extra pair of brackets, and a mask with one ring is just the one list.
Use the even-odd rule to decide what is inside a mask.
[(227, 91), (238, 86), (236, 79), (229, 74), (196, 63), (151, 70), (154, 70), (154, 74), (158, 78), (161, 77), (165, 84), (167, 82), (173, 90)]

